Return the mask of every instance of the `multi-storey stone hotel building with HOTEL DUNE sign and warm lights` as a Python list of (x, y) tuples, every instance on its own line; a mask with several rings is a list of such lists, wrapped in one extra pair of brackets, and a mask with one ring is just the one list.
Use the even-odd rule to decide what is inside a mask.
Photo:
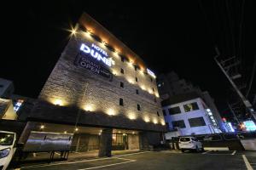
[(148, 150), (166, 125), (155, 75), (137, 54), (83, 14), (38, 96), (30, 131), (74, 133), (73, 150)]

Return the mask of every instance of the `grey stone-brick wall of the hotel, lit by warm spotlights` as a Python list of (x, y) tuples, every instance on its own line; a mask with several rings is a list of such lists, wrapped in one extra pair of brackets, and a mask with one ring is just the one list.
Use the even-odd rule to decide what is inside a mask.
[[(93, 43), (107, 52), (115, 65), (109, 67), (97, 62), (107, 67), (113, 78), (74, 65), (82, 43)], [(124, 83), (124, 88), (120, 87), (120, 82)], [(81, 125), (166, 130), (154, 77), (139, 69), (136, 71), (131, 62), (122, 61), (80, 28), (68, 42), (38, 99), (30, 116), (33, 120), (72, 124), (79, 116)], [(124, 105), (119, 105), (119, 99), (123, 99)], [(137, 105), (141, 111), (137, 111)]]

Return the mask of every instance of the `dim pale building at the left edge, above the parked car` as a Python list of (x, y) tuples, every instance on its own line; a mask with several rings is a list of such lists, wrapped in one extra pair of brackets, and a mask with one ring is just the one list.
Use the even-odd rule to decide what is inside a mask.
[(0, 98), (9, 99), (15, 91), (13, 82), (0, 78)]

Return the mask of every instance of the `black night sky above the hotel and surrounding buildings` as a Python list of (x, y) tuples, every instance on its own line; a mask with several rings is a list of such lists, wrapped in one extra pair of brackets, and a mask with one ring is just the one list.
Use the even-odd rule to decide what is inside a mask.
[(15, 94), (37, 98), (67, 44), (70, 32), (65, 30), (74, 26), (84, 11), (139, 54), (157, 74), (176, 71), (208, 90), (221, 110), (231, 87), (213, 60), (215, 45), (222, 58), (236, 55), (241, 59), (246, 75), (241, 82), (248, 82), (256, 54), (253, 0), (120, 2), (6, 5), (2, 11), (0, 77), (15, 83)]

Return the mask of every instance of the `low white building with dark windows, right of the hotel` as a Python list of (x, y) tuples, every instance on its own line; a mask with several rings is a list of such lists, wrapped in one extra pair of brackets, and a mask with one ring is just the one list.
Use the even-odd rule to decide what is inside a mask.
[(179, 103), (165, 102), (163, 112), (169, 130), (177, 129), (180, 136), (191, 134), (221, 133), (212, 111), (201, 98)]

